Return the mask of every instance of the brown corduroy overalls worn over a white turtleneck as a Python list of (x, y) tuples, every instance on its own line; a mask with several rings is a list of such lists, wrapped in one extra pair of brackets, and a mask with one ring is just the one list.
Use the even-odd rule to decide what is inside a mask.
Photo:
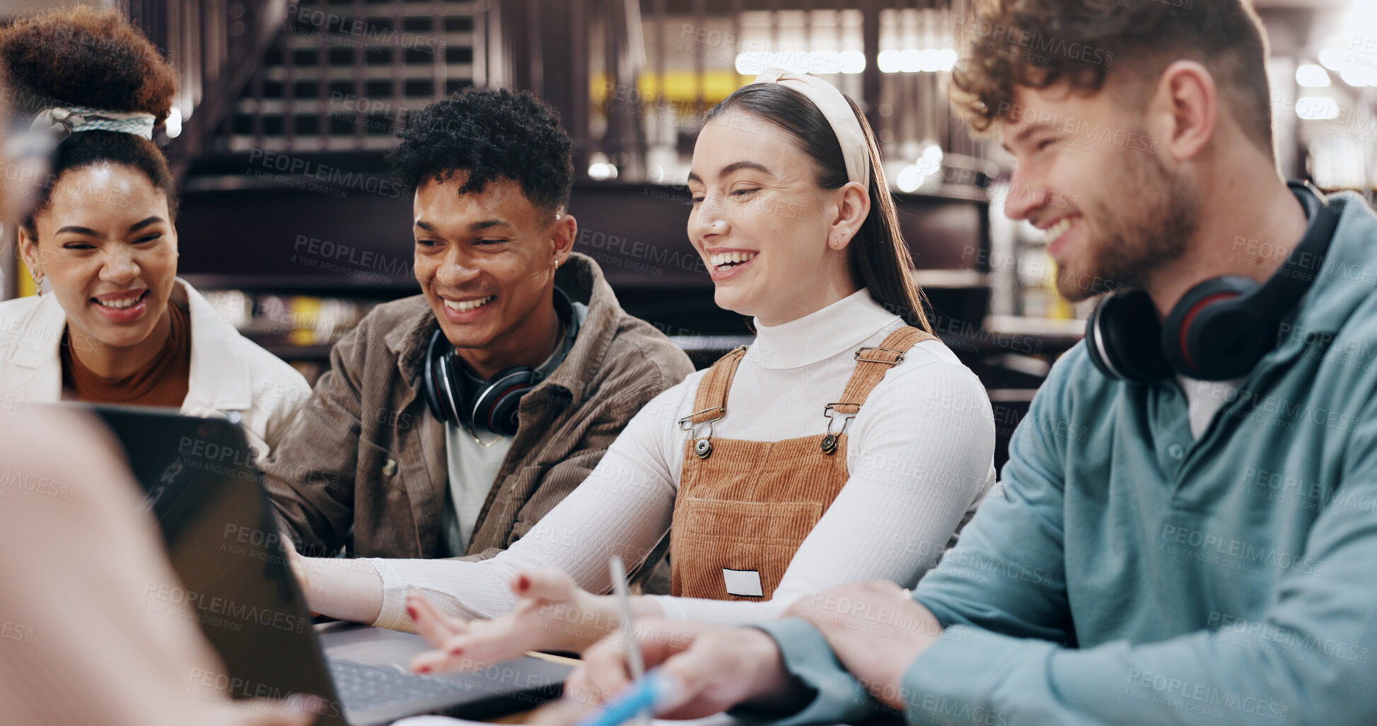
[[(847, 484), (847, 423), (910, 347), (932, 339), (899, 328), (880, 346), (858, 349), (841, 401), (823, 409), (828, 431), (784, 441), (712, 438), (712, 422), (727, 413), (727, 391), (746, 349), (715, 362), (698, 384), (694, 413), (679, 420), (680, 428), (706, 423), (708, 431), (684, 450), (669, 530), (669, 592), (770, 599), (795, 551)], [(843, 422), (833, 433), (836, 416)]]

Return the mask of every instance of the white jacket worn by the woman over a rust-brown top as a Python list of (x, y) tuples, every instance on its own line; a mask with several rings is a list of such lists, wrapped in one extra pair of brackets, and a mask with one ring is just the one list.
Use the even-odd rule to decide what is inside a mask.
[[(191, 371), (182, 413), (227, 417), (238, 413), (257, 460), (286, 430), (311, 394), (306, 379), (223, 321), (185, 280), (172, 300), (186, 303), (191, 325)], [(0, 406), (62, 400), (59, 346), (67, 314), (54, 295), (0, 303)]]

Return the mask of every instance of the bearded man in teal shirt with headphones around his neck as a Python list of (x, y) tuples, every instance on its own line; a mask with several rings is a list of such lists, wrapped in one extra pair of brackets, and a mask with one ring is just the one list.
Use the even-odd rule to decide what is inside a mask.
[[(1120, 293), (912, 594), (644, 623), (646, 660), (686, 683), (664, 711), (1377, 723), (1377, 218), (1278, 175), (1248, 4), (976, 7), (953, 88), (1016, 158), (1005, 214), (1048, 231), (1063, 296)], [(605, 642), (570, 687), (625, 683)]]

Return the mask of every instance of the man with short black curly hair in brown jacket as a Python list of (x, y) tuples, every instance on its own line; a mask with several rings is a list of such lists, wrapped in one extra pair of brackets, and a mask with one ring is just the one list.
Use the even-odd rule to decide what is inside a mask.
[[(388, 161), (416, 189), (420, 295), (335, 346), (264, 482), (303, 554), (486, 559), (693, 365), (571, 251), (571, 143), (545, 103), (470, 88), (401, 138)], [(629, 563), (638, 581), (665, 544)], [(295, 562), (308, 597), (337, 569)]]

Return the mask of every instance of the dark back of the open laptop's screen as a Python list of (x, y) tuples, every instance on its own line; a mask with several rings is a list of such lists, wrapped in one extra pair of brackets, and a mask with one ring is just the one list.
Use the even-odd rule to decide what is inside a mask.
[(237, 424), (167, 412), (96, 406), (124, 446), (162, 528), (180, 583), (145, 585), (143, 608), (189, 609), (224, 660), (223, 674), (187, 674), (213, 698), (311, 694), (317, 723), (346, 725), (281, 535)]

